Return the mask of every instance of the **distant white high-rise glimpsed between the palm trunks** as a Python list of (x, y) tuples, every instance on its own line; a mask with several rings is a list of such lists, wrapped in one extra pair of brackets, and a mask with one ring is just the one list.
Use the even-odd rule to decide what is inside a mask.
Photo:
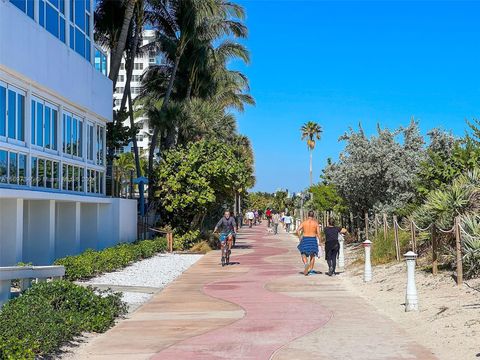
[[(155, 36), (154, 30), (144, 30), (142, 45), (151, 43), (154, 39), (154, 36)], [(135, 99), (138, 96), (138, 94), (140, 94), (142, 74), (145, 71), (147, 71), (149, 66), (156, 65), (159, 63), (160, 63), (160, 56), (155, 53), (149, 53), (143, 57), (135, 58), (132, 81), (130, 82), (132, 99)], [(123, 59), (122, 64), (120, 65), (120, 72), (118, 75), (116, 89), (113, 94), (115, 110), (120, 109), (120, 103), (122, 101), (122, 96), (125, 90), (126, 81), (127, 81), (127, 71), (125, 70), (125, 59)], [(127, 103), (127, 108), (128, 108), (128, 103)], [(142, 151), (143, 152), (148, 151), (148, 145), (150, 141), (148, 118), (143, 116), (138, 117), (135, 119), (135, 124), (139, 127), (139, 131), (137, 133), (137, 145), (139, 148), (139, 152), (142, 153)], [(125, 120), (124, 126), (130, 127), (130, 119)], [(131, 142), (130, 144), (125, 146), (123, 149), (119, 149), (119, 152), (131, 152), (131, 151), (133, 151), (133, 144)]]

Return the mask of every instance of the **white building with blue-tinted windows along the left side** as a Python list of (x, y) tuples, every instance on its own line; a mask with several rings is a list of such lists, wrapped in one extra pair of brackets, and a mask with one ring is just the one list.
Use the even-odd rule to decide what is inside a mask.
[(136, 201), (105, 196), (113, 91), (93, 6), (0, 0), (0, 266), (136, 238)]

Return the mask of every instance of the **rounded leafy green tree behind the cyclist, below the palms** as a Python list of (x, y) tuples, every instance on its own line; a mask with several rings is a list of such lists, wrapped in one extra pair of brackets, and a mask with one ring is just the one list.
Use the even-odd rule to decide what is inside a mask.
[(231, 145), (218, 141), (202, 140), (166, 151), (156, 175), (164, 221), (194, 229), (208, 213), (230, 208), (234, 187), (249, 187), (253, 176), (243, 160)]

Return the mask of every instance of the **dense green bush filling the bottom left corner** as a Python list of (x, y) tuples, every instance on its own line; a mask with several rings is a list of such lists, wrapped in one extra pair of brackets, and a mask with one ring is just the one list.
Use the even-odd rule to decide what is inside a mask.
[(0, 312), (0, 359), (51, 355), (83, 332), (105, 332), (124, 314), (120, 294), (64, 280), (36, 284)]

